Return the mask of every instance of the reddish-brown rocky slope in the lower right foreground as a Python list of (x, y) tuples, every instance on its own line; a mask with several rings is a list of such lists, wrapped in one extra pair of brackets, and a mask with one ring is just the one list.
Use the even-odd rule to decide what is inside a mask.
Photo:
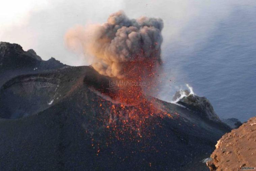
[[(250, 170), (256, 166), (256, 117), (226, 133), (207, 162), (211, 171)], [(248, 168), (249, 167), (249, 168)]]

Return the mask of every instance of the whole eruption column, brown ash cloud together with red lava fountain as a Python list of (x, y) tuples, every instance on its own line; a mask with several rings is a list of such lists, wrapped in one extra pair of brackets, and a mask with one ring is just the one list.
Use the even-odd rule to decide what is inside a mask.
[[(162, 29), (162, 19), (129, 19), (123, 11), (118, 11), (109, 16), (107, 23), (85, 28), (77, 26), (65, 35), (70, 49), (82, 47), (85, 58), (93, 57), (92, 67), (98, 73), (128, 83), (128, 86), (115, 85), (115, 91), (107, 95), (121, 103), (120, 109), (112, 106), (113, 115), (139, 135), (146, 118), (167, 114), (155, 108), (144, 95), (157, 87)], [(125, 105), (136, 106), (136, 109), (125, 110)]]

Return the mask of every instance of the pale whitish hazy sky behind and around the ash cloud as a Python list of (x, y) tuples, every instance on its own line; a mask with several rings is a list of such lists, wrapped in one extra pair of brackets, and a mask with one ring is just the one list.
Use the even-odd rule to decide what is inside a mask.
[(51, 57), (68, 65), (88, 65), (65, 47), (65, 32), (75, 25), (103, 23), (124, 10), (129, 18), (150, 16), (164, 20), (163, 59), (168, 48), (195, 50), (234, 6), (254, 0), (0, 0), (0, 41), (34, 49), (42, 59)]

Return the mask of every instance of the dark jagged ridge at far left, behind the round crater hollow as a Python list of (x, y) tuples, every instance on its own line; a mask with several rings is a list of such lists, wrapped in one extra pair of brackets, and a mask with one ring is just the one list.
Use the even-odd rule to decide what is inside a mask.
[(54, 58), (44, 61), (33, 49), (24, 51), (19, 44), (0, 42), (0, 87), (17, 75), (49, 72), (63, 67), (68, 66)]

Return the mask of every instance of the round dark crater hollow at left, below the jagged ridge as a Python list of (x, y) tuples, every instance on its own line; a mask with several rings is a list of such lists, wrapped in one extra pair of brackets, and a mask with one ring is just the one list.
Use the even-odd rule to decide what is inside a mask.
[(58, 98), (60, 79), (39, 75), (19, 76), (0, 90), (0, 117), (16, 119), (50, 107)]

